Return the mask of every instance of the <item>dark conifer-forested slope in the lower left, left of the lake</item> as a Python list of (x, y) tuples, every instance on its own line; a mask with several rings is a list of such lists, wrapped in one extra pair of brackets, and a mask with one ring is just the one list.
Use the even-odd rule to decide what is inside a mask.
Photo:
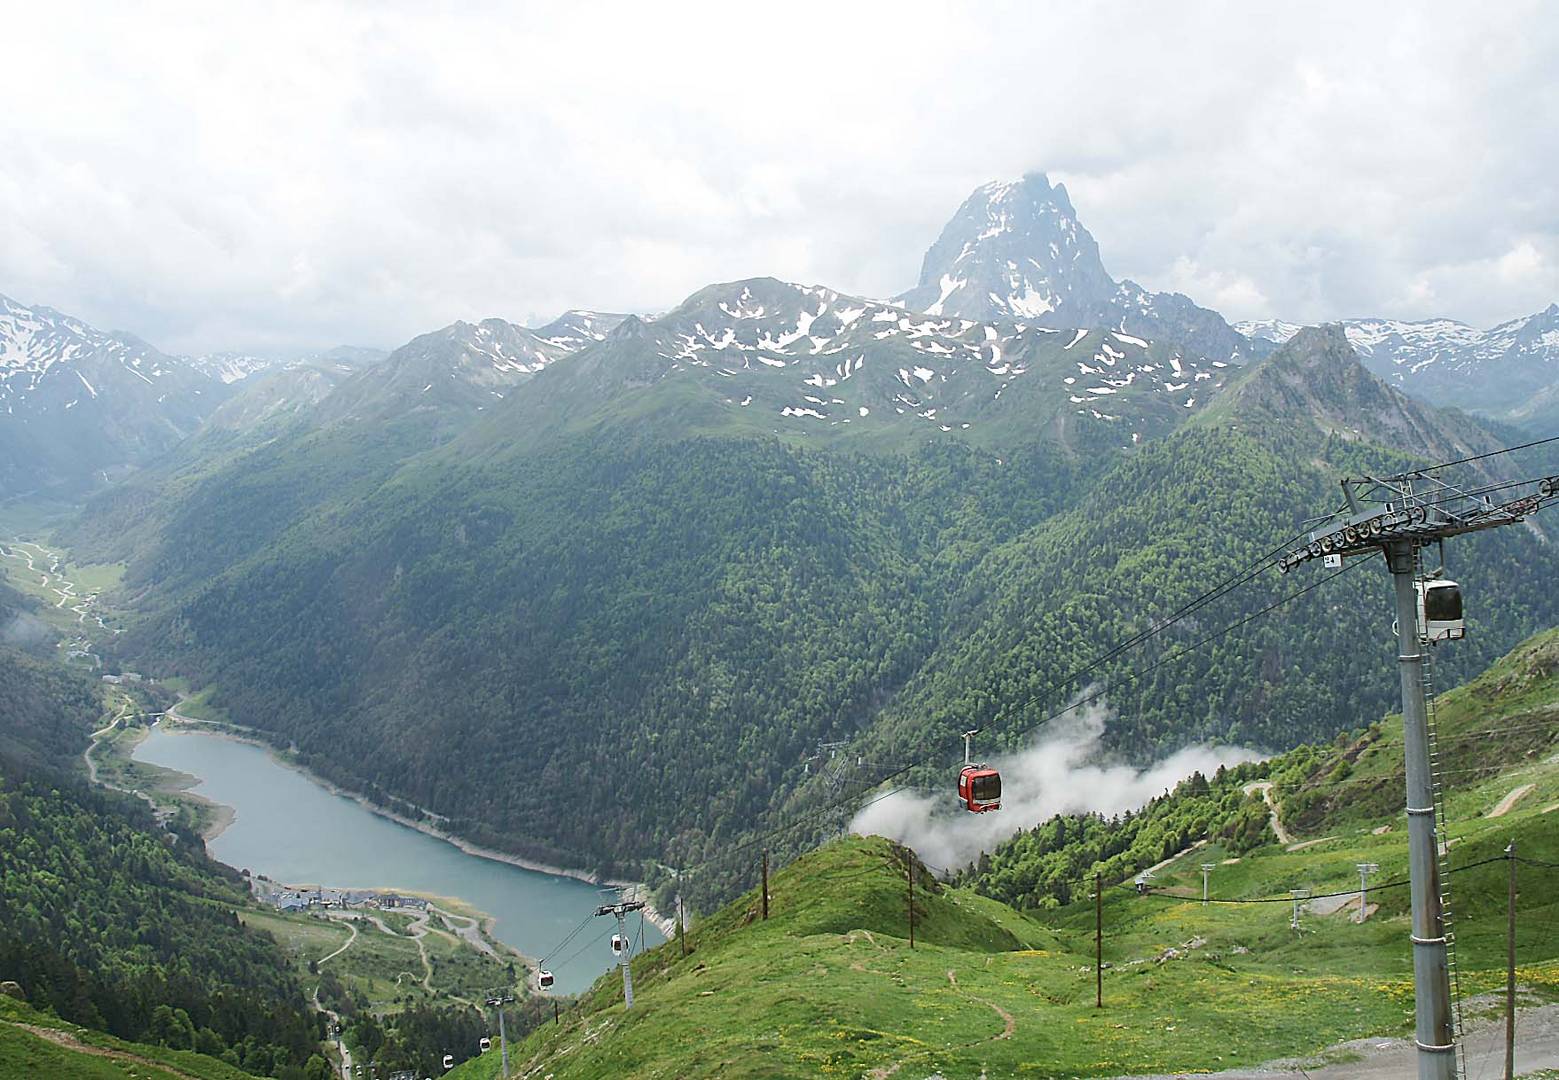
[(61, 669), (0, 655), (0, 980), (125, 1039), (302, 1077), (320, 1030), (248, 893), (140, 801), (64, 768), (100, 706)]

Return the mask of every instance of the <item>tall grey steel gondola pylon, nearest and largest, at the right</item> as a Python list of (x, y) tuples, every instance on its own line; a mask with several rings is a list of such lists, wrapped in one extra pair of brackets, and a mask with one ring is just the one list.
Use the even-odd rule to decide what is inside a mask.
[[(1437, 818), (1439, 762), (1425, 694), (1425, 647), (1461, 637), (1464, 630), (1456, 584), (1420, 581), (1420, 552), (1450, 536), (1523, 522), (1559, 494), (1559, 477), (1467, 489), (1444, 480), (1437, 469), (1423, 469), (1386, 478), (1344, 478), (1342, 494), (1345, 508), (1313, 531), (1305, 547), (1283, 555), (1277, 566), (1288, 574), (1316, 558), (1341, 566), (1349, 556), (1375, 552), (1386, 556), (1395, 589), (1402, 676), (1419, 1080), (1455, 1080), (1459, 1027), (1451, 1005), (1455, 952), (1444, 891), (1444, 848), (1436, 835), (1444, 831), (1444, 818)], [(1497, 496), (1501, 502), (1495, 502)], [(1436, 595), (1436, 589), (1442, 595)]]

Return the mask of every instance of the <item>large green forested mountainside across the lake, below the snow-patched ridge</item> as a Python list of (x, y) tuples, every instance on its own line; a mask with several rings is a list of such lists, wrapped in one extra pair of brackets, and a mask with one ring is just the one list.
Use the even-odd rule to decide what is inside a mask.
[[(652, 391), (553, 366), (399, 464), (374, 452), (405, 450), (391, 429), (335, 425), (193, 478), (128, 552), (147, 616), (122, 647), (341, 784), (496, 846), (642, 873), (814, 807), (818, 740), (889, 767), (951, 764), (971, 726), (1021, 745), (1080, 689), (1069, 672), (1296, 536), (1338, 475), (1503, 436), (1384, 388), (1322, 330), (1124, 450), (1087, 436), (1110, 421), (1059, 438), (1049, 413), (999, 452), (678, 435), (684, 377), (705, 376)], [(549, 401), (617, 421), (536, 444), (527, 418)], [(115, 517), (80, 536), (94, 521)], [(1451, 558), (1473, 626), (1451, 676), (1559, 622), (1559, 597), (1518, 584), (1551, 572), (1543, 536)], [(1118, 714), (1107, 746), (1280, 750), (1384, 711), (1373, 569), (1257, 614), (1322, 574), (1269, 572), (1093, 672)]]

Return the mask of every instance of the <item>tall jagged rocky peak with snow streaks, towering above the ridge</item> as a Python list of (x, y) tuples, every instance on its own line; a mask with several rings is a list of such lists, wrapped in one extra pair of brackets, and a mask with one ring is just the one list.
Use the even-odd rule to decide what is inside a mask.
[(1124, 330), (1208, 360), (1238, 363), (1252, 351), (1218, 312), (1110, 277), (1066, 187), (1045, 173), (976, 189), (898, 302), (974, 323)]

